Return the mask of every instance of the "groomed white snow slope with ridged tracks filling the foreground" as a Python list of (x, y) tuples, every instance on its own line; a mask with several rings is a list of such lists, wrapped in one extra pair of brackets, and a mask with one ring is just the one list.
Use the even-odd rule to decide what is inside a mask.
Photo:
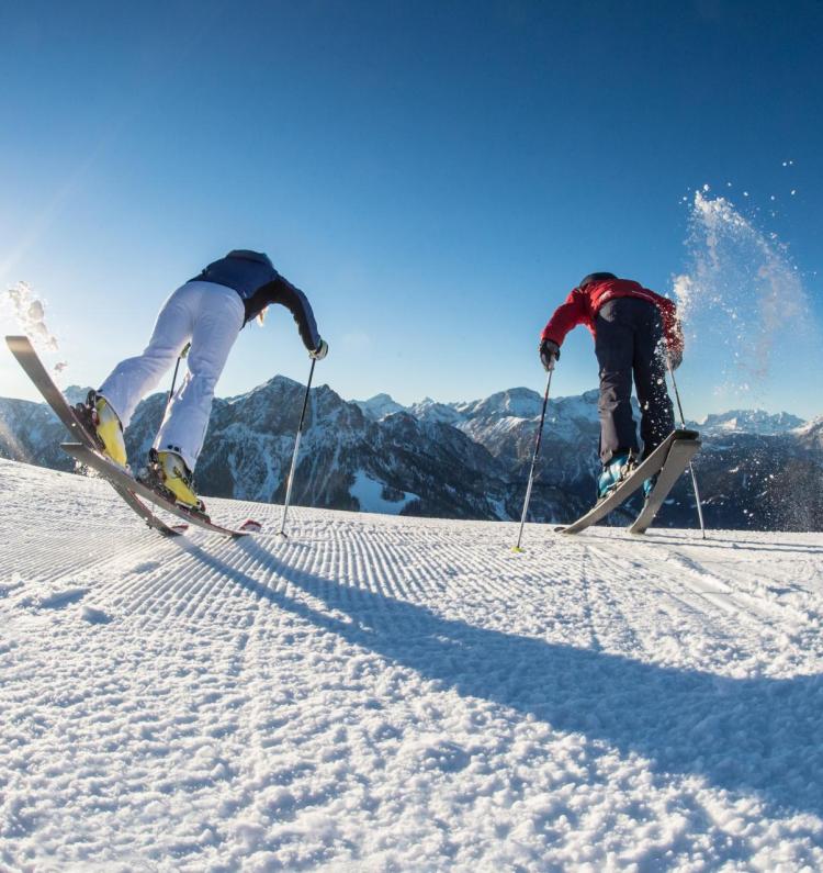
[(823, 868), (823, 536), (212, 511), (0, 462), (0, 868)]

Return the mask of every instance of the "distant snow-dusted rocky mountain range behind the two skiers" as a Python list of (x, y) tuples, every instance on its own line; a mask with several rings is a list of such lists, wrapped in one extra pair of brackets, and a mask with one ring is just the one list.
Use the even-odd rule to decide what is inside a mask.
[[(215, 400), (196, 469), (204, 496), (280, 502), (304, 388), (275, 377), (247, 394)], [(69, 389), (77, 398), (84, 392)], [(381, 394), (345, 401), (312, 390), (293, 500), (306, 506), (448, 518), (517, 519), (542, 398), (525, 388), (471, 403), (410, 407)], [(137, 408), (126, 444), (145, 458), (165, 395)], [(731, 412), (699, 426), (696, 470), (712, 528), (823, 530), (823, 417)], [(597, 391), (550, 401), (530, 521), (563, 522), (594, 501)], [(0, 457), (71, 470), (63, 426), (45, 404), (0, 399)], [(635, 499), (636, 500), (636, 499)], [(633, 505), (633, 504), (632, 504)], [(612, 514), (625, 524), (630, 514)], [(657, 524), (694, 527), (687, 477)]]

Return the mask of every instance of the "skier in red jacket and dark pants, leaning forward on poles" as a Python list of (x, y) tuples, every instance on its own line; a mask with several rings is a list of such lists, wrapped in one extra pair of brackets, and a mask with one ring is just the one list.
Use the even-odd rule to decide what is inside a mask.
[[(546, 370), (560, 359), (566, 334), (585, 324), (595, 337), (600, 365), (600, 460), (598, 497), (625, 477), (641, 457), (632, 417), (632, 377), (640, 402), (640, 434), (647, 457), (674, 429), (666, 387), (666, 357), (673, 369), (683, 360), (677, 307), (639, 282), (610, 272), (589, 273), (557, 307), (540, 336)], [(644, 488), (651, 491), (653, 480)]]

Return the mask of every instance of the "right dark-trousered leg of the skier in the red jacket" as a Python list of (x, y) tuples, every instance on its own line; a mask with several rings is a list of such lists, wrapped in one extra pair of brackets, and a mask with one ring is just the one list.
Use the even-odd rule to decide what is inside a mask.
[(647, 458), (674, 430), (675, 415), (666, 385), (663, 322), (659, 311), (645, 304), (635, 326), (634, 385), (640, 403), (640, 435)]

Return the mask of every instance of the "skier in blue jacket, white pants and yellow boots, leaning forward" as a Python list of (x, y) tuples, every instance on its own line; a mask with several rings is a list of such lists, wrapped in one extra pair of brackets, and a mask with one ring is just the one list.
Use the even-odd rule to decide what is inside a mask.
[(151, 460), (178, 503), (202, 508), (192, 471), (203, 447), (214, 388), (240, 329), (270, 303), (291, 311), (311, 357), (326, 357), (328, 345), (317, 332), (305, 294), (280, 276), (266, 255), (229, 251), (171, 294), (143, 354), (121, 361), (90, 396), (90, 418), (105, 454), (125, 466), (123, 429), (140, 400), (191, 343), (189, 372), (169, 404)]

